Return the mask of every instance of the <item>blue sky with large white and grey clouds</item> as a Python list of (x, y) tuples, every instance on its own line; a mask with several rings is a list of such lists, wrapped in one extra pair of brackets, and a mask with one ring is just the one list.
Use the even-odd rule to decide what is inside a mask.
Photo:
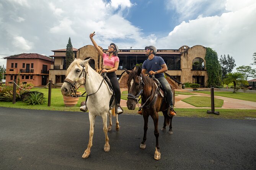
[[(0, 0), (0, 65), (19, 53), (92, 44), (103, 48), (178, 49), (183, 45), (229, 54), (249, 65), (256, 52), (255, 0)], [(254, 67), (255, 68), (255, 67)], [(233, 70), (233, 72), (235, 69)]]

